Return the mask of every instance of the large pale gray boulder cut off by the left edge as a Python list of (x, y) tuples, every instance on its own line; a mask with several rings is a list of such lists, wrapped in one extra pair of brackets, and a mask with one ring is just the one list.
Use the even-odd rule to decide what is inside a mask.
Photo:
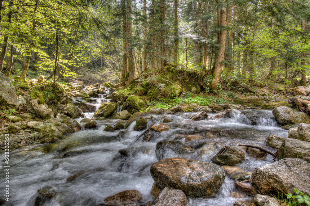
[(11, 79), (1, 72), (0, 72), (0, 104), (8, 106), (12, 109), (18, 109), (18, 107), (20, 106)]

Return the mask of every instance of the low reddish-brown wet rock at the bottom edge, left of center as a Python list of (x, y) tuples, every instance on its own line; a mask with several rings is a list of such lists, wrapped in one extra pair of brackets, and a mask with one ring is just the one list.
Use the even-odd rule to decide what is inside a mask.
[(142, 195), (136, 190), (126, 190), (104, 199), (104, 205), (128, 205), (142, 199)]

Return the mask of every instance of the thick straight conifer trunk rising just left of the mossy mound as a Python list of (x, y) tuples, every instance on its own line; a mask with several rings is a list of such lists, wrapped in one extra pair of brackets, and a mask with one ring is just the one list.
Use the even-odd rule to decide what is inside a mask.
[[(131, 0), (126, 0), (127, 2), (127, 60), (128, 60), (128, 72), (126, 73), (125, 83), (129, 86), (130, 82), (134, 81), (135, 77), (135, 62), (132, 54), (132, 9)], [(128, 76), (128, 78), (127, 78)]]

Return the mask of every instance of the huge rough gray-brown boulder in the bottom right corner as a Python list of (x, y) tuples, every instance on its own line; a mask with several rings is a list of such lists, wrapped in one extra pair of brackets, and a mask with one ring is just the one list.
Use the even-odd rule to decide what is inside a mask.
[(277, 195), (278, 192), (294, 194), (293, 189), (298, 188), (309, 196), (309, 182), (310, 164), (297, 158), (284, 158), (255, 167), (252, 172), (252, 183), (262, 195)]

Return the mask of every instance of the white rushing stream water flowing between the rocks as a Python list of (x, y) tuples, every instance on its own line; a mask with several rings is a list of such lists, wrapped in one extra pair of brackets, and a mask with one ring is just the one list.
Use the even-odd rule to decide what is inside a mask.
[[(106, 99), (97, 99), (97, 107)], [(120, 108), (119, 108), (120, 109)], [(259, 114), (260, 118), (270, 116), (268, 110), (248, 110)], [(126, 130), (122, 137), (117, 137), (117, 132), (105, 132), (107, 125), (118, 122), (123, 124), (126, 120), (107, 119), (97, 121), (98, 126), (94, 129), (82, 129), (81, 131), (65, 135), (65, 138), (48, 145), (28, 146), (14, 150), (10, 153), (10, 202), (6, 205), (35, 204), (36, 191), (43, 187), (56, 191), (56, 195), (48, 200), (45, 205), (65, 206), (93, 206), (101, 205), (104, 199), (124, 190), (137, 190), (143, 195), (140, 205), (146, 205), (147, 201), (155, 198), (150, 194), (153, 179), (150, 174), (150, 166), (157, 162), (155, 148), (158, 141), (179, 140), (184, 142), (187, 134), (204, 135), (211, 132), (215, 138), (203, 138), (189, 142), (193, 147), (204, 142), (213, 142), (214, 147), (202, 155), (191, 153), (186, 158), (211, 162), (213, 156), (225, 145), (236, 146), (237, 144), (257, 144), (264, 148), (266, 137), (272, 133), (281, 137), (287, 137), (287, 130), (277, 126), (275, 120), (258, 121), (253, 125), (240, 111), (234, 110), (232, 118), (217, 119), (216, 114), (211, 113), (208, 120), (193, 121), (190, 117), (197, 112), (175, 113), (174, 115), (153, 115), (148, 120), (150, 126), (161, 124), (165, 117), (174, 121), (168, 124), (170, 129), (154, 136), (149, 142), (142, 142), (136, 137), (144, 131), (134, 131), (135, 121)], [(265, 115), (262, 115), (265, 114)], [(93, 113), (86, 113), (91, 117)], [(148, 117), (148, 116), (147, 116)], [(78, 122), (81, 120), (76, 119)], [(259, 119), (259, 118), (258, 118)], [(267, 118), (270, 119), (270, 118)], [(83, 123), (82, 123), (82, 128)], [(120, 155), (118, 150), (125, 149), (127, 157)], [(269, 148), (270, 151), (275, 150)], [(84, 153), (68, 158), (62, 158), (65, 152), (83, 151)], [(178, 155), (175, 151), (166, 150), (161, 154), (164, 158)], [(4, 154), (1, 154), (2, 159)], [(246, 158), (249, 158), (246, 156)], [(272, 156), (264, 160), (249, 159), (243, 164), (238, 164), (241, 169), (251, 172), (257, 166), (263, 166), (272, 162)], [(3, 162), (3, 161), (2, 161)], [(3, 165), (1, 170), (4, 170)], [(4, 173), (1, 173), (1, 175)], [(67, 179), (76, 175), (73, 180)], [(4, 178), (2, 175), (1, 178)], [(4, 181), (3, 181), (4, 182)], [(0, 185), (3, 191), (4, 184)], [(231, 206), (236, 200), (248, 200), (249, 196), (235, 198), (232, 195), (237, 189), (234, 180), (226, 176), (220, 191), (210, 198), (188, 197), (188, 205), (223, 205)]]

